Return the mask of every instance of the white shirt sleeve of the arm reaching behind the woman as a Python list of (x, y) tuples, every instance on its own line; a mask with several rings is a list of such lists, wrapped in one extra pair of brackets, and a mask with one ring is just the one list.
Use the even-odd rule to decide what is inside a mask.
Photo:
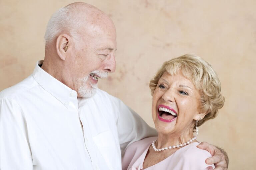
[(157, 131), (132, 109), (119, 100), (119, 117), (117, 119), (118, 137), (122, 156), (126, 147), (145, 137), (157, 136)]

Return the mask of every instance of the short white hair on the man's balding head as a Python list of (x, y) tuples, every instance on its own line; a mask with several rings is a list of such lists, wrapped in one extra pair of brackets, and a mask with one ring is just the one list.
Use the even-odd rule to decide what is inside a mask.
[(77, 30), (82, 24), (83, 17), (78, 15), (78, 9), (72, 6), (65, 6), (57, 10), (50, 18), (45, 32), (45, 42), (50, 43), (53, 39), (65, 32), (76, 38)]

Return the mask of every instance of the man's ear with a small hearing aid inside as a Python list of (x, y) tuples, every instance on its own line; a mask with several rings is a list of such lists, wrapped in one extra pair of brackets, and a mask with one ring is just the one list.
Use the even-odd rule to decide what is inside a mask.
[(68, 49), (70, 49), (71, 45), (71, 37), (67, 34), (61, 34), (57, 37), (56, 41), (56, 50), (57, 54), (62, 60), (66, 59), (66, 55), (68, 53)]

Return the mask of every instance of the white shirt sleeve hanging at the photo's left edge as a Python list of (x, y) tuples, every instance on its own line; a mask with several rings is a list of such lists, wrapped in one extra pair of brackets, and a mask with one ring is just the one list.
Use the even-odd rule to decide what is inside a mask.
[(14, 100), (0, 99), (0, 169), (32, 170), (26, 121)]

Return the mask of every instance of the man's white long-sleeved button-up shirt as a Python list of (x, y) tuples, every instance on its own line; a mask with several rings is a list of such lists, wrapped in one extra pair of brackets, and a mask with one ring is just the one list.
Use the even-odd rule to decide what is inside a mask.
[(121, 151), (157, 133), (122, 101), (89, 99), (36, 64), (0, 93), (1, 170), (121, 170)]

